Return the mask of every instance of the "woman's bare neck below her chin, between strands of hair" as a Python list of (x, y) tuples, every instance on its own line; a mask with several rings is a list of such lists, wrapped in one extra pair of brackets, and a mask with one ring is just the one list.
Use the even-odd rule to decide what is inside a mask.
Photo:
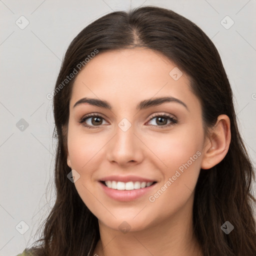
[[(193, 234), (192, 201), (188, 201), (183, 209), (170, 217), (163, 218), (163, 221), (158, 221), (155, 225), (143, 230), (123, 233), (99, 221), (100, 239), (93, 255), (202, 255), (201, 248)], [(187, 212), (190, 213), (187, 214)]]

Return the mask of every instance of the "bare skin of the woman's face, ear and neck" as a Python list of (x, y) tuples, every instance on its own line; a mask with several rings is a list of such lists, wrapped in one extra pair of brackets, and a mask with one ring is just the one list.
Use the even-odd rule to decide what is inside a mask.
[[(146, 48), (98, 53), (82, 69), (73, 84), (67, 132), (67, 164), (80, 177), (74, 185), (83, 202), (98, 218), (100, 240), (94, 254), (101, 255), (201, 255), (192, 232), (194, 188), (200, 168), (220, 162), (230, 143), (230, 122), (218, 116), (216, 125), (204, 136), (199, 99), (192, 93), (183, 72), (174, 80), (169, 72), (175, 64)], [(187, 105), (165, 102), (137, 110), (144, 99), (175, 97)], [(87, 103), (73, 107), (82, 97), (108, 101), (112, 110)], [(79, 120), (100, 113), (97, 126), (92, 118), (88, 129)], [(152, 114), (169, 114), (177, 123)], [(126, 118), (127, 131), (118, 123)], [(151, 125), (151, 126), (150, 126)], [(196, 160), (153, 202), (149, 196), (166, 183), (175, 171), (199, 151)], [(106, 175), (138, 175), (157, 181), (149, 193), (128, 202), (108, 197), (98, 180)], [(122, 232), (126, 221), (130, 229)]]

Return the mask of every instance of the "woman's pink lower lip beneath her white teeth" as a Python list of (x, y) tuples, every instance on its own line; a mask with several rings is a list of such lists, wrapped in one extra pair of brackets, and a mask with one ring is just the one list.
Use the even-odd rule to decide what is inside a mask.
[(134, 200), (144, 194), (146, 194), (150, 189), (152, 189), (156, 183), (144, 187), (144, 188), (138, 188), (138, 189), (133, 189), (133, 190), (118, 190), (118, 189), (113, 189), (105, 186), (102, 182), (99, 182), (101, 187), (103, 188), (104, 192), (111, 197), (112, 199), (118, 200), (118, 201), (131, 201)]

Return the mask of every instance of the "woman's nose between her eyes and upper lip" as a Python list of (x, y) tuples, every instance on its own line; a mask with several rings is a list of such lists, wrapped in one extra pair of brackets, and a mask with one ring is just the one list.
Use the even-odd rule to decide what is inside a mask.
[(107, 159), (119, 166), (128, 167), (136, 165), (143, 158), (143, 143), (135, 134), (134, 125), (125, 129), (116, 127), (114, 137), (109, 141), (107, 148)]

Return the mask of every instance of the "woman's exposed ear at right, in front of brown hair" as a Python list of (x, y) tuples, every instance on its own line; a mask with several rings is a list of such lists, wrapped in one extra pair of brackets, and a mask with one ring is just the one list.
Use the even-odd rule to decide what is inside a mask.
[(209, 130), (204, 141), (202, 169), (209, 169), (219, 163), (226, 155), (231, 140), (230, 120), (225, 114), (218, 116), (216, 124)]

